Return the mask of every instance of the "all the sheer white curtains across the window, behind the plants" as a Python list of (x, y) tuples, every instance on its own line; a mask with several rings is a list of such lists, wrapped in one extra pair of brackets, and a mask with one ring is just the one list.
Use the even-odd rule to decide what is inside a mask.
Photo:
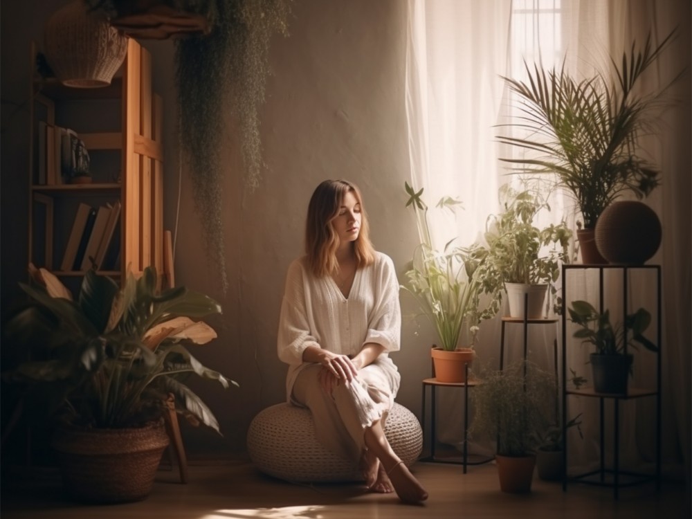
[[(459, 244), (470, 244), (482, 233), (487, 215), (498, 208), (498, 186), (507, 181), (498, 157), (511, 152), (495, 143), (500, 131), (495, 125), (511, 109), (501, 75), (521, 78), (522, 60), (540, 61), (549, 68), (561, 64), (565, 56), (570, 72), (591, 75), (594, 66), (603, 66), (610, 54), (621, 55), (635, 37), (644, 42), (651, 31), (656, 44), (677, 19), (689, 19), (689, 4), (682, 0), (409, 0), (408, 15), (406, 108), (411, 183), (425, 188), (428, 206), (434, 206), (443, 195), (464, 203), (455, 222), (430, 211), (432, 239), (441, 246), (453, 236)], [(689, 28), (682, 29), (682, 42), (669, 51), (678, 55), (660, 61), (662, 76), (668, 73), (670, 77), (671, 69), (689, 66), (685, 45), (689, 46)], [(689, 97), (689, 79), (676, 88), (673, 93)], [(689, 147), (689, 100), (684, 106), (688, 108), (686, 118), (680, 113), (669, 115), (664, 135), (646, 141), (648, 158), (664, 171), (664, 184), (648, 203), (664, 226), (664, 243), (652, 262), (664, 269), (662, 444), (664, 464), (671, 466), (680, 464), (681, 452), (687, 464), (690, 459), (690, 161), (684, 144)], [(567, 217), (574, 224), (576, 211), (569, 196), (557, 194), (552, 206), (546, 219)], [(650, 282), (638, 283), (630, 286), (630, 293), (644, 301), (655, 297)], [(596, 295), (594, 279), (576, 276), (570, 281), (570, 291), (580, 298), (592, 298)], [(630, 304), (639, 304), (637, 301), (632, 299)], [(612, 311), (618, 311), (617, 306)], [(485, 323), (479, 348), (479, 356), (486, 361), (492, 358), (495, 365), (499, 327), (499, 320)], [(552, 340), (547, 331), (529, 334), (542, 365), (552, 365)], [(567, 353), (567, 365), (586, 374), (588, 348), (573, 347)], [(645, 365), (635, 375), (650, 374), (653, 367)], [(457, 398), (448, 397), (455, 408)], [(576, 459), (586, 463), (594, 459), (598, 448), (596, 400), (576, 400), (570, 403), (570, 415), (585, 413), (585, 432), (592, 439), (570, 441), (576, 447)], [(647, 432), (651, 428), (643, 425), (655, 420), (653, 407), (644, 400), (622, 407), (626, 407), (623, 423), (628, 427), (621, 439), (626, 461), (650, 462), (653, 437)], [(455, 427), (448, 432), (443, 428), (443, 440), (447, 437), (455, 443), (461, 437), (458, 425)]]

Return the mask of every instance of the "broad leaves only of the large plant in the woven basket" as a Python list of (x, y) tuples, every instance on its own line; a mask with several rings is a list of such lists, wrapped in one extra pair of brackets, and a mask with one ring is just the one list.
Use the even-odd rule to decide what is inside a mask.
[(130, 274), (122, 290), (87, 271), (75, 300), (50, 272), (35, 272), (38, 283), (20, 284), (33, 304), (5, 328), (8, 343), (34, 346), (30, 360), (5, 373), (26, 385), (31, 407), (69, 424), (123, 428), (160, 418), (172, 396), (177, 412), (219, 432), (212, 411), (182, 378), (236, 384), (185, 347), (216, 337), (192, 318), (220, 313), (217, 302), (184, 286), (159, 293), (151, 267), (139, 280)]

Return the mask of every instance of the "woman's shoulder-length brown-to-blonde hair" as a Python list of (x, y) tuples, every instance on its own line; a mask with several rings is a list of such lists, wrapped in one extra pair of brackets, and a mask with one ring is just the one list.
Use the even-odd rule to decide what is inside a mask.
[(338, 271), (336, 251), (340, 245), (331, 221), (339, 214), (346, 193), (353, 193), (361, 204), (361, 230), (354, 242), (357, 268), (372, 264), (375, 251), (370, 242), (370, 226), (367, 223), (363, 197), (358, 187), (345, 180), (325, 180), (317, 186), (307, 208), (305, 226), (305, 253), (310, 270), (317, 277)]

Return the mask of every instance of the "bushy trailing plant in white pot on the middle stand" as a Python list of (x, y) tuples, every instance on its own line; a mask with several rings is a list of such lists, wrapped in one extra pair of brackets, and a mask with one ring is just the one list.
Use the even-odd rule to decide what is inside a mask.
[[(486, 243), (474, 244), (466, 249), (466, 255), (478, 261), (477, 277), (489, 282), (484, 291), (491, 291), (498, 300), (502, 291), (507, 291), (510, 317), (545, 317), (545, 295), (548, 287), (552, 295), (556, 293), (560, 265), (569, 260), (572, 231), (564, 221), (536, 226), (538, 212), (549, 207), (535, 190), (518, 192), (505, 184), (500, 188), (500, 200), (502, 212), (489, 216), (486, 224)], [(556, 312), (560, 311), (556, 307)]]

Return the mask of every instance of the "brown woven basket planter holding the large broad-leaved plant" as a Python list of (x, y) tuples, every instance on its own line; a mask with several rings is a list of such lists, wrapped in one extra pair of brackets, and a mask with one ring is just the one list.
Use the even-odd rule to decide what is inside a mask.
[(141, 428), (61, 428), (53, 439), (65, 489), (81, 501), (139, 501), (169, 443), (163, 419)]

